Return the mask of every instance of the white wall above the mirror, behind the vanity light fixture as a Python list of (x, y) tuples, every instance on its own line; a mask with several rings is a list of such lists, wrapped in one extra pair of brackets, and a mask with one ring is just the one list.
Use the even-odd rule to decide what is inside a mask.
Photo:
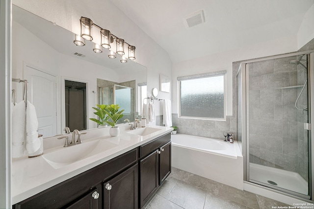
[[(148, 70), (148, 94), (151, 94), (154, 87), (159, 89), (160, 73), (171, 77), (171, 60), (167, 52), (110, 0), (104, 0), (102, 5), (93, 5), (92, 1), (86, 3), (84, 0), (13, 0), (12, 3), (77, 34), (80, 31), (80, 17), (90, 18), (136, 46), (136, 62)], [(171, 93), (160, 93), (158, 97), (170, 99)], [(160, 102), (155, 107), (156, 115), (161, 115)]]

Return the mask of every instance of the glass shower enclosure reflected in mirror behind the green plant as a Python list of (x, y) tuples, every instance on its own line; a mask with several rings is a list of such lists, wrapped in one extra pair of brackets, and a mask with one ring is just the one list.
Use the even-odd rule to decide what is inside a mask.
[(123, 117), (117, 121), (117, 124), (124, 123), (126, 118), (130, 121), (134, 119), (134, 89), (131, 87), (120, 85), (99, 87), (99, 102), (100, 104), (119, 104), (120, 110), (124, 110)]

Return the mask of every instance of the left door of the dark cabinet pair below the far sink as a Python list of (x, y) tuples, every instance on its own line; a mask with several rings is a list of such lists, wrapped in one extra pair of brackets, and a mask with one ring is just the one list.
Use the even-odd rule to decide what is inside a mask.
[(158, 150), (140, 161), (140, 208), (156, 192), (158, 184)]

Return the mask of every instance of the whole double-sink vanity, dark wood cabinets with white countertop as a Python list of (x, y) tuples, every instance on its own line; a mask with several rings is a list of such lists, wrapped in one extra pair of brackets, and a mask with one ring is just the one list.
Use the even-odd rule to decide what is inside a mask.
[[(36, 158), (13, 160), (13, 209), (143, 208), (171, 172), (171, 130), (154, 126), (126, 130), (118, 137), (86, 139), (85, 147), (95, 146), (96, 154), (76, 162), (58, 162), (55, 156), (68, 148), (63, 146), (44, 150)], [(87, 133), (86, 138), (88, 134), (93, 135)], [(21, 169), (22, 163), (26, 164)]]

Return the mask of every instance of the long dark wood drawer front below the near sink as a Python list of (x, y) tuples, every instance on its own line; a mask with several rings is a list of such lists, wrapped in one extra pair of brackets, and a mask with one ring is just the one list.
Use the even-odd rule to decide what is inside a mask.
[(69, 180), (52, 186), (18, 204), (15, 209), (61, 208), (79, 196), (90, 191), (91, 187), (111, 178), (115, 174), (137, 162), (138, 148), (132, 149), (112, 160), (89, 169)]

